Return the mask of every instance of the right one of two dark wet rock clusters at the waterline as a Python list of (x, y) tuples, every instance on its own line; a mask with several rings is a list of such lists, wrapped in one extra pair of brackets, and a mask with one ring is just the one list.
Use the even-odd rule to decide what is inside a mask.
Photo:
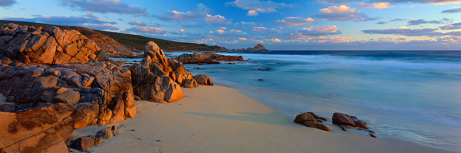
[(375, 132), (369, 130), (366, 126), (367, 124), (355, 116), (349, 116), (343, 113), (333, 113), (332, 121), (333, 124), (339, 125), (344, 131), (355, 128), (366, 131), (371, 137), (377, 138)]

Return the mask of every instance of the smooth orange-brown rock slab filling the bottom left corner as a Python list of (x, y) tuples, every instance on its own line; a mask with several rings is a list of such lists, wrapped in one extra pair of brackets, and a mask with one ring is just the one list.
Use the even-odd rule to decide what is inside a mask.
[(67, 153), (64, 141), (74, 129), (70, 104), (0, 112), (1, 153)]

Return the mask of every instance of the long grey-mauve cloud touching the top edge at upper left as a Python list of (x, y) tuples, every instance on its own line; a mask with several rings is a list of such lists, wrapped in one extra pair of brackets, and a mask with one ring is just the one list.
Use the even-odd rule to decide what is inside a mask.
[(128, 5), (121, 0), (62, 0), (63, 5), (76, 8), (81, 11), (98, 13), (115, 13), (125, 15), (146, 16), (148, 11), (136, 5)]

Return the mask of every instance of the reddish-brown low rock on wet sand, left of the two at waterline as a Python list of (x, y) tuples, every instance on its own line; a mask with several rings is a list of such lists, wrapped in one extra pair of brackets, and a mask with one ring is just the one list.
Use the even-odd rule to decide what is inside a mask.
[[(311, 115), (311, 114), (313, 114), (313, 115)], [(314, 116), (316, 118), (314, 118)], [(322, 120), (322, 118), (319, 118), (313, 112), (306, 112), (306, 113), (296, 115), (296, 118), (295, 118), (295, 120), (293, 122), (296, 122), (298, 124), (303, 124), (304, 126), (307, 126), (307, 127), (313, 127), (313, 128), (318, 128), (318, 129), (324, 130), (324, 131), (330, 131), (328, 126), (325, 126), (324, 124), (318, 123), (317, 120)]]

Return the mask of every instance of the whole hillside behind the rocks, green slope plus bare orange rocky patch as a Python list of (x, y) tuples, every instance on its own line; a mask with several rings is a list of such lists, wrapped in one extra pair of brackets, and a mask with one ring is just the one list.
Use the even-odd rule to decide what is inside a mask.
[[(28, 25), (34, 27), (43, 27), (49, 28), (52, 26), (59, 27), (60, 29), (66, 30), (76, 30), (87, 36), (90, 39), (93, 39), (98, 46), (105, 49), (109, 52), (121, 53), (123, 55), (128, 54), (127, 50), (136, 51), (144, 50), (144, 45), (147, 42), (153, 41), (160, 48), (165, 50), (174, 50), (174, 51), (227, 51), (225, 47), (221, 46), (208, 46), (205, 44), (195, 44), (195, 43), (183, 43), (183, 42), (174, 42), (169, 40), (157, 39), (144, 37), (134, 34), (118, 33), (118, 32), (109, 32), (109, 31), (99, 31), (91, 30), (83, 27), (77, 26), (57, 26), (43, 23), (34, 23), (34, 22), (22, 22), (22, 21), (9, 21), (9, 20), (0, 20), (1, 24), (15, 23), (18, 25)], [(112, 47), (112, 50), (111, 50)], [(118, 49), (118, 50), (117, 50)], [(123, 56), (120, 55), (120, 56)]]

